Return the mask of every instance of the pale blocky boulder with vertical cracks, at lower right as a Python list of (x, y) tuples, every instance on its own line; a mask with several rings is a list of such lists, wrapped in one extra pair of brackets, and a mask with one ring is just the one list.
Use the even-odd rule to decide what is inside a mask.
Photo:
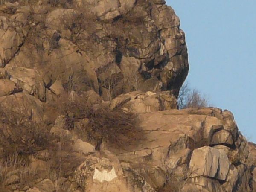
[(205, 146), (192, 152), (188, 176), (226, 180), (229, 168), (230, 162), (225, 151)]

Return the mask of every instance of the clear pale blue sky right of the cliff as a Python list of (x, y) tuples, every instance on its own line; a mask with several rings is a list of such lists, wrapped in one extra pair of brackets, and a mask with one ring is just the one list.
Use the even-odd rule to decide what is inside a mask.
[(192, 88), (233, 112), (256, 143), (256, 1), (167, 0), (180, 17), (189, 50)]

